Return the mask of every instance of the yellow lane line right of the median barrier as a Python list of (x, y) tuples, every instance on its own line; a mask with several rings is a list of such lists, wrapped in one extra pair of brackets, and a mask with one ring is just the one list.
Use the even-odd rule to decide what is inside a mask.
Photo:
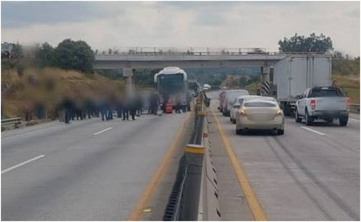
[(231, 161), (234, 172), (237, 175), (240, 188), (241, 188), (241, 190), (243, 190), (244, 195), (246, 197), (246, 200), (247, 200), (249, 209), (251, 210), (253, 219), (255, 221), (268, 221), (268, 218), (267, 218), (265, 212), (263, 211), (259, 201), (257, 200), (255, 193), (252, 190), (252, 187), (248, 181), (247, 175), (244, 172), (242, 165), (238, 162), (238, 159), (233, 151), (232, 146), (230, 145), (230, 143), (226, 137), (226, 134), (221, 126), (221, 123), (220, 123), (218, 117), (213, 113), (213, 111), (212, 111), (212, 116), (216, 120), (219, 135), (221, 136), (223, 144), (226, 147), (226, 151), (228, 153), (228, 156)]

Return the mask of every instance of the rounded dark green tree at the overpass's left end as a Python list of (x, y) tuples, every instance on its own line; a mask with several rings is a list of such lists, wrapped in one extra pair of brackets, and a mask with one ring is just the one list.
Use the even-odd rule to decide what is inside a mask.
[(65, 39), (55, 49), (56, 64), (66, 70), (91, 72), (95, 56), (85, 41)]

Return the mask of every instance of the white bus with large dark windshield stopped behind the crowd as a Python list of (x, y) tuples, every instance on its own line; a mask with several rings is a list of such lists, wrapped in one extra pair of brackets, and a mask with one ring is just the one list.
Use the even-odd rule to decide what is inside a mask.
[(187, 73), (184, 70), (179, 67), (166, 67), (154, 75), (154, 83), (161, 103), (168, 99), (175, 109), (177, 100), (180, 100), (183, 112), (190, 110)]

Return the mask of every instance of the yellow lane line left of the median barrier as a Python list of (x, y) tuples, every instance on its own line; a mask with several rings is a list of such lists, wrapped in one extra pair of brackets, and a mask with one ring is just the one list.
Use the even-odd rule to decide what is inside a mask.
[(184, 131), (184, 126), (186, 125), (190, 116), (191, 116), (191, 112), (188, 112), (186, 119), (183, 121), (181, 128), (179, 128), (175, 138), (173, 139), (173, 142), (172, 142), (170, 148), (166, 151), (166, 153), (162, 159), (162, 162), (160, 163), (156, 172), (153, 174), (147, 187), (145, 187), (145, 190), (143, 191), (142, 195), (140, 196), (138, 203), (136, 203), (136, 205), (132, 209), (131, 213), (129, 214), (127, 221), (138, 221), (140, 219), (140, 216), (142, 216), (143, 209), (145, 208), (149, 199), (152, 197), (153, 192), (155, 191), (155, 189), (158, 185), (158, 182), (162, 179), (165, 170), (168, 168), (171, 157), (173, 156), (173, 154), (177, 148), (179, 139), (181, 138), (181, 135)]

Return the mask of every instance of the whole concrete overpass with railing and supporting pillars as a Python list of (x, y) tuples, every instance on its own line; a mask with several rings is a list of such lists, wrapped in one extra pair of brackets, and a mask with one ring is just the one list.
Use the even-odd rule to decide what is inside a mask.
[[(308, 54), (307, 52), (305, 52)], [(219, 67), (262, 67), (261, 88), (265, 94), (270, 88), (270, 67), (288, 55), (305, 53), (266, 52), (263, 48), (127, 48), (118, 50), (96, 51), (94, 70), (123, 70), (126, 88), (132, 91), (133, 70), (137, 68), (219, 68)], [(314, 54), (314, 52), (312, 53)]]

